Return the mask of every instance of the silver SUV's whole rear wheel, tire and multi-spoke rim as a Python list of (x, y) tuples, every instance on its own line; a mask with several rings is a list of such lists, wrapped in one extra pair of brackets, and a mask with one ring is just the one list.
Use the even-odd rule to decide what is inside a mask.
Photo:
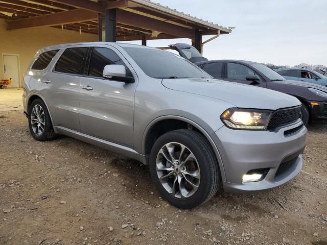
[(31, 103), (28, 108), (28, 119), (30, 133), (34, 139), (45, 141), (55, 138), (48, 109), (42, 100), (36, 99)]

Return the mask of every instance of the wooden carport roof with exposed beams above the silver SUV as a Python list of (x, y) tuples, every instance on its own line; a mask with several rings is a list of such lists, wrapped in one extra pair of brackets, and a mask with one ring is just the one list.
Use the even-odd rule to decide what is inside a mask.
[(148, 0), (0, 0), (6, 29), (55, 27), (99, 34), (99, 14), (116, 9), (116, 40), (196, 38), (228, 34), (230, 29)]

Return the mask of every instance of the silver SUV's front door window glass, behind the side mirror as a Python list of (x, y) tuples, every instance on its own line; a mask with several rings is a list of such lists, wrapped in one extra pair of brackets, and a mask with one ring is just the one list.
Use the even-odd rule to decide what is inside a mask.
[[(102, 78), (103, 68), (106, 65), (125, 65), (122, 59), (112, 50), (106, 47), (93, 48), (88, 76)], [(126, 76), (132, 77), (130, 70), (126, 67)]]

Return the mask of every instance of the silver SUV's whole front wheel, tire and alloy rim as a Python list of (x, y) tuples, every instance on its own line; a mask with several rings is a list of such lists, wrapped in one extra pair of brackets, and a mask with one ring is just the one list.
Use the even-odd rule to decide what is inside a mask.
[(211, 145), (190, 130), (171, 131), (157, 139), (150, 154), (150, 172), (162, 197), (183, 209), (211, 199), (220, 182)]

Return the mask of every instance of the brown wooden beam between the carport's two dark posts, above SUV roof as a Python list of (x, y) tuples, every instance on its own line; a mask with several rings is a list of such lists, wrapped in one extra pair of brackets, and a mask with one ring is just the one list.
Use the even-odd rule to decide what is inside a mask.
[(129, 24), (131, 26), (150, 29), (183, 38), (195, 38), (195, 33), (192, 29), (179, 27), (171, 23), (134, 14), (121, 9), (117, 9), (116, 11), (116, 21), (119, 23)]

